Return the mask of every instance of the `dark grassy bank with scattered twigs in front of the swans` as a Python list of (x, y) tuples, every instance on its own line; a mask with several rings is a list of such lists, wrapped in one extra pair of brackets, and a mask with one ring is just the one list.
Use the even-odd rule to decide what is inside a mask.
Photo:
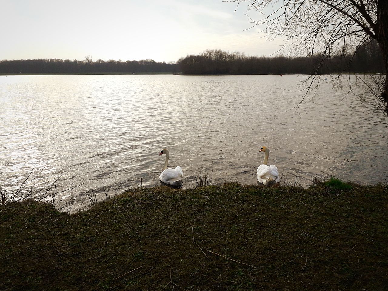
[(0, 289), (384, 290), (387, 188), (334, 184), (139, 188), (73, 215), (5, 204)]

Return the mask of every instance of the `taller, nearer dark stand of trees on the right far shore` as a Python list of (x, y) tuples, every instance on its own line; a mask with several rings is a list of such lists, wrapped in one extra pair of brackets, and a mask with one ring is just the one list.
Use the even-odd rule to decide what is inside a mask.
[(345, 46), (322, 63), (320, 54), (308, 57), (251, 57), (240, 52), (205, 50), (178, 60), (184, 74), (328, 74), (381, 73), (384, 62), (377, 42), (370, 41), (351, 52)]

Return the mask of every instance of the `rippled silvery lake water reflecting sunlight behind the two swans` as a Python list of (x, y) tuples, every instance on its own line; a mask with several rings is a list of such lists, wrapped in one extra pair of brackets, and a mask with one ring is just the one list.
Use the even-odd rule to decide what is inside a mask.
[[(355, 76), (350, 78), (356, 83)], [(336, 175), (362, 184), (387, 182), (388, 121), (345, 91), (322, 82), (302, 115), (290, 110), (303, 92), (298, 75), (0, 76), (0, 181), (16, 186), (35, 170), (31, 185), (60, 176), (58, 201), (102, 187), (152, 186), (170, 150), (185, 185), (201, 168), (213, 182), (256, 183), (269, 163), (283, 181)], [(345, 86), (346, 87), (346, 86)], [(362, 86), (353, 88), (363, 95)], [(345, 98), (346, 97), (346, 98)], [(345, 99), (344, 99), (345, 98)], [(155, 179), (155, 180), (154, 180)], [(299, 180), (299, 178), (298, 178)], [(36, 184), (35, 184), (36, 183)], [(111, 190), (112, 191), (112, 190)]]

